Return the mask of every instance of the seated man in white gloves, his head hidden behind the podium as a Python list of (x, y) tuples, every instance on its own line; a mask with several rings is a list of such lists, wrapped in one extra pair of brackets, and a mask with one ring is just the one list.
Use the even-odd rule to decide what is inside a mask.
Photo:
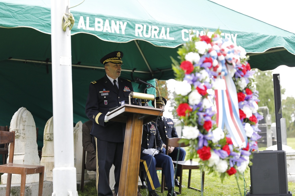
[(174, 192), (174, 166), (171, 157), (162, 153), (163, 142), (155, 122), (143, 125), (140, 164), (145, 168), (149, 196), (159, 196), (155, 189), (160, 187), (155, 167), (162, 167), (168, 188), (167, 196), (177, 196)]

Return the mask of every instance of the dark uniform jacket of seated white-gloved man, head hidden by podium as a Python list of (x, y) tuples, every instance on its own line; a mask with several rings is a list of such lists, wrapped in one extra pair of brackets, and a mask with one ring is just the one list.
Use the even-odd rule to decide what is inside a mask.
[[(157, 146), (156, 146), (157, 145)], [(159, 153), (162, 152), (163, 142), (160, 138), (158, 129), (155, 122), (149, 122), (143, 125), (142, 129), (142, 142), (141, 142), (141, 156), (146, 155), (142, 153), (144, 149), (156, 148)]]

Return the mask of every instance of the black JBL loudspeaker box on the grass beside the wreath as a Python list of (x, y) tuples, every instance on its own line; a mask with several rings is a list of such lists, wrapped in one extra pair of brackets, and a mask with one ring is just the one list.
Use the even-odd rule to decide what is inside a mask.
[(250, 166), (251, 196), (291, 196), (288, 191), (286, 151), (264, 150), (253, 153)]

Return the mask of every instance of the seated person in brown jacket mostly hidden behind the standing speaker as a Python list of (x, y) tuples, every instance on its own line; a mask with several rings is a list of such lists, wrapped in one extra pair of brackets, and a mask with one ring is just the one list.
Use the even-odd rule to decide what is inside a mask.
[[(94, 145), (92, 143), (92, 137), (90, 135), (90, 131), (92, 128), (92, 121), (88, 120), (82, 125), (82, 145), (84, 149), (87, 152), (86, 155), (86, 170), (88, 171), (96, 171), (96, 152), (94, 149)], [(114, 169), (115, 166), (112, 165), (110, 169), (110, 175), (109, 175), (109, 185), (110, 188), (113, 192), (113, 195), (116, 196), (115, 190), (114, 190), (114, 185), (115, 185), (115, 177), (114, 177)], [(98, 175), (98, 172), (96, 171), (96, 175)], [(141, 184), (141, 180), (138, 180), (138, 185)], [(139, 191), (137, 191), (137, 196), (142, 196)]]

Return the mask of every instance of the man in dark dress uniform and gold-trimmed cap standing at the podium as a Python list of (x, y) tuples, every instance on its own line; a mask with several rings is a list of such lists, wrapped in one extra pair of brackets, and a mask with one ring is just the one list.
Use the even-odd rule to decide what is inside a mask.
[[(115, 166), (115, 194), (118, 194), (121, 162), (123, 154), (126, 123), (108, 122), (109, 109), (128, 102), (128, 95), (133, 91), (130, 81), (120, 78), (123, 53), (115, 51), (101, 58), (106, 75), (89, 85), (86, 102), (86, 115), (92, 120), (90, 135), (96, 147), (96, 188), (98, 196), (112, 196), (109, 187), (109, 171)], [(132, 104), (137, 105), (135, 99)], [(97, 155), (99, 154), (99, 156)]]

